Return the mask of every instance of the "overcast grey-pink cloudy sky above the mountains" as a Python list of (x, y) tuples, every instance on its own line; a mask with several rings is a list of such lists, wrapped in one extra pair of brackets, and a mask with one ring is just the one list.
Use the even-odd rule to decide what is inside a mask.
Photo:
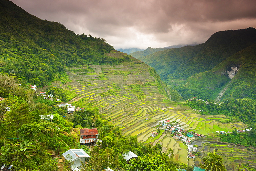
[(213, 33), (256, 28), (255, 0), (11, 0), (116, 49), (205, 42)]

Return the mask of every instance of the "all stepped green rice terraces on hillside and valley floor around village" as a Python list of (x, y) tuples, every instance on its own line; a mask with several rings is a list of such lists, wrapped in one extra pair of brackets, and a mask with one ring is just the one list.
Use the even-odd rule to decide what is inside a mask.
[[(127, 54), (112, 51), (107, 55), (121, 58)], [(162, 81), (154, 69), (132, 56), (129, 57), (130, 61), (118, 65), (67, 66), (65, 71), (72, 82), (67, 84), (55, 82), (52, 85), (75, 91), (77, 97), (69, 103), (81, 99), (97, 107), (101, 115), (122, 129), (124, 135), (136, 135), (138, 142), (141, 143), (155, 145), (159, 142), (164, 153), (172, 149), (173, 157), (180, 162), (198, 166), (203, 155), (216, 149), (217, 153), (225, 157), (224, 164), (227, 169), (232, 168), (235, 160), (239, 160), (244, 167), (252, 166), (248, 163), (253, 160), (253, 155), (256, 156), (255, 152), (250, 152), (251, 154), (248, 155), (241, 154), (245, 147), (230, 143), (224, 145), (225, 149), (221, 145), (214, 145), (220, 143), (215, 138), (216, 131), (231, 132), (233, 128), (246, 128), (246, 124), (224, 123), (225, 115), (201, 115), (200, 112), (185, 106), (184, 102), (171, 101), (167, 98), (168, 95), (164, 95), (164, 92), (166, 94), (168, 92), (161, 85)], [(41, 90), (43, 88), (38, 89), (38, 92)], [(199, 157), (194, 160), (188, 159), (187, 147), (182, 141), (175, 140), (169, 131), (160, 129), (157, 136), (151, 136), (152, 132), (157, 132), (159, 123), (166, 120), (170, 120), (170, 123), (178, 123), (180, 129), (205, 136), (205, 139), (195, 141), (200, 142)], [(210, 143), (210, 141), (215, 142)], [(236, 155), (231, 157), (230, 153)], [(239, 167), (243, 168), (242, 165)]]

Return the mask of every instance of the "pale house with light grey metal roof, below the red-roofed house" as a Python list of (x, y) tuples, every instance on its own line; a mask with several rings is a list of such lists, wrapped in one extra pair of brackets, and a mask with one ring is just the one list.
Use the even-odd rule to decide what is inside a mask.
[(71, 169), (72, 170), (80, 170), (80, 166), (86, 163), (86, 158), (90, 156), (81, 149), (69, 149), (62, 156), (66, 160), (71, 160)]

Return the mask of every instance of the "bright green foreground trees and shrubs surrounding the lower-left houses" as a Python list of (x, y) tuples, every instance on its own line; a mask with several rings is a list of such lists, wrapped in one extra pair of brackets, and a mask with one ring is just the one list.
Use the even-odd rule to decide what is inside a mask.
[[(37, 97), (34, 90), (19, 86), (17, 77), (7, 74), (0, 76), (3, 78), (0, 79), (2, 93), (7, 94), (7, 98), (0, 101), (0, 165), (14, 165), (14, 170), (67, 170), (70, 163), (57, 162), (58, 158), (51, 156), (52, 151), (57, 155), (59, 153), (62, 158), (62, 153), (69, 149), (83, 149), (91, 157), (87, 159), (88, 165), (83, 166), (82, 170), (108, 167), (127, 170), (130, 166), (122, 154), (128, 151), (141, 156), (145, 160), (142, 162), (148, 166), (152, 163), (152, 156), (163, 158), (164, 160), (154, 161), (157, 170), (193, 170), (192, 167), (162, 153), (159, 143), (155, 146), (144, 145), (138, 143), (136, 136), (124, 136), (119, 127), (114, 127), (104, 116), (99, 115), (98, 108), (92, 107), (85, 99), (72, 103), (83, 110), (68, 115), (66, 107), (56, 107), (61, 101)], [(13, 92), (18, 93), (13, 95)], [(67, 100), (66, 90), (50, 87), (46, 92), (58, 94), (63, 96), (63, 101)], [(9, 106), (10, 111), (5, 110)], [(40, 117), (49, 114), (54, 115), (52, 121)], [(83, 127), (98, 129), (98, 139), (103, 140), (101, 146), (88, 149), (80, 145), (79, 128)], [(144, 170), (150, 169), (151, 167), (147, 167)]]

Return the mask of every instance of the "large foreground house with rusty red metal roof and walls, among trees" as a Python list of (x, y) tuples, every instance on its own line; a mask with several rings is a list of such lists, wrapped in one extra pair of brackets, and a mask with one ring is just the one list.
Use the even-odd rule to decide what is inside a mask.
[(80, 143), (96, 143), (98, 139), (98, 129), (97, 128), (84, 128), (80, 129)]

